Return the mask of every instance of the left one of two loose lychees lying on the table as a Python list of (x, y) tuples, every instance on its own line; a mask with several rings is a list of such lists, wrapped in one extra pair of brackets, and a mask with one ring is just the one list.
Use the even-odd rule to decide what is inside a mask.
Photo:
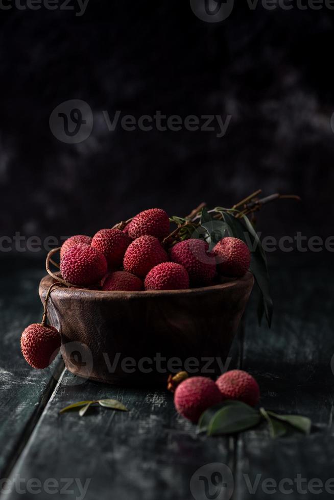
[(207, 377), (192, 377), (179, 384), (174, 394), (176, 410), (188, 420), (198, 422), (202, 413), (222, 401), (218, 386)]

